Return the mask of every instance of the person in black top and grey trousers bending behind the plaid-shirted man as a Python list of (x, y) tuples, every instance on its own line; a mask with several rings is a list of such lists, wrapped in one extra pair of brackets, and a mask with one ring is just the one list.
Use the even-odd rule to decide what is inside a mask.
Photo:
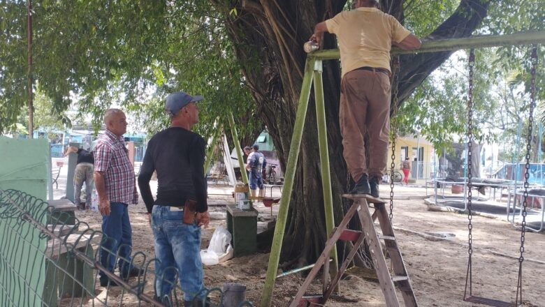
[[(94, 158), (93, 152), (78, 147), (68, 147), (64, 156), (68, 153), (78, 153), (78, 160), (74, 172), (74, 202), (79, 209), (89, 208), (91, 206), (91, 195), (94, 188)], [(81, 188), (85, 182), (85, 205), (80, 200)]]

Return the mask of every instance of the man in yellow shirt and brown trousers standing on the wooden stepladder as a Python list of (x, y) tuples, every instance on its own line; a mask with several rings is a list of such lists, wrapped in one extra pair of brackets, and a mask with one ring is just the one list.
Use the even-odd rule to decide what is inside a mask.
[[(340, 130), (344, 160), (356, 182), (353, 194), (379, 197), (379, 181), (386, 170), (390, 130), (390, 50), (420, 47), (420, 40), (395, 17), (379, 10), (376, 0), (356, 0), (344, 11), (314, 27), (318, 45), (324, 32), (334, 33), (342, 68)], [(363, 135), (369, 135), (369, 160)]]

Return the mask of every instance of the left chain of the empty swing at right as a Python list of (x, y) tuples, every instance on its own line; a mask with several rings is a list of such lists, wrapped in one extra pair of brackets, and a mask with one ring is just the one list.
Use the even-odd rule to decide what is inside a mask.
[(469, 59), (469, 88), (467, 89), (467, 230), (469, 230), (467, 244), (469, 246), (467, 253), (471, 256), (473, 253), (473, 236), (472, 236), (472, 142), (473, 142), (473, 68), (475, 66), (475, 53), (474, 50), (470, 50), (470, 59)]

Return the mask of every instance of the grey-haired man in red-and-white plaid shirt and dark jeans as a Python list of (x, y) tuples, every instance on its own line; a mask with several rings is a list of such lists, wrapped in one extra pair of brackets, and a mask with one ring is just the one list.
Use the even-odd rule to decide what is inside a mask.
[[(104, 234), (101, 264), (110, 272), (115, 268), (119, 250), (119, 275), (126, 279), (138, 276), (143, 270), (131, 267), (132, 230), (129, 204), (138, 204), (134, 168), (129, 160), (123, 134), (126, 117), (122, 110), (108, 109), (104, 114), (106, 131), (96, 140), (94, 153), (94, 182), (99, 194), (99, 211), (102, 214)], [(117, 286), (106, 274), (100, 274), (101, 286)]]

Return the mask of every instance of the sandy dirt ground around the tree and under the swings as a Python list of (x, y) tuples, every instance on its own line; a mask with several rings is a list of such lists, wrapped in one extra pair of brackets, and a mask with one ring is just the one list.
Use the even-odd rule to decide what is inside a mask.
[[(381, 186), (381, 190), (382, 188), (387, 186)], [(388, 195), (384, 193), (385, 191), (382, 195)], [(223, 191), (220, 189), (217, 193), (228, 193), (228, 188)], [(424, 191), (403, 187), (398, 192), (398, 197), (404, 193), (423, 196)], [(233, 202), (233, 200), (231, 197), (210, 195), (211, 204), (226, 202)], [(396, 237), (419, 306), (472, 306), (462, 300), (467, 269), (467, 215), (428, 211), (423, 199), (419, 199), (418, 196), (416, 199), (395, 200), (394, 204), (393, 224)], [(225, 207), (210, 206), (210, 211), (224, 212)], [(262, 204), (259, 206), (259, 211), (264, 216), (270, 214), (270, 209), (264, 208)], [(154, 257), (153, 236), (147, 223), (143, 203), (131, 206), (129, 212), (133, 229), (133, 250), (142, 251), (148, 256), (148, 260), (152, 259)], [(89, 223), (90, 227), (100, 229), (99, 213), (77, 211), (76, 216)], [(260, 223), (261, 226), (264, 224)], [(212, 220), (210, 227), (203, 229), (203, 249), (208, 247), (210, 237), (215, 227), (219, 225), (226, 227), (226, 220)], [(500, 218), (474, 216), (473, 225), (474, 295), (514, 301), (521, 244), (520, 231)], [(456, 237), (432, 241), (421, 236), (423, 232), (449, 232)], [(543, 233), (526, 233), (524, 255), (524, 306), (545, 306), (545, 237)], [(209, 288), (221, 288), (224, 283), (245, 284), (247, 299), (253, 301), (254, 306), (259, 306), (268, 256), (268, 254), (259, 253), (205, 267), (205, 285)], [(300, 274), (279, 278), (275, 284), (273, 305), (288, 306), (289, 300), (295, 295), (303, 280)], [(101, 289), (103, 288), (98, 287), (98, 290)], [(340, 289), (340, 295), (330, 299), (326, 306), (386, 306), (378, 283), (372, 280), (349, 276), (346, 280), (342, 280)], [(320, 290), (321, 280), (315, 280), (308, 293), (318, 293)], [(152, 291), (152, 285), (145, 287), (145, 293), (152, 296)], [(102, 295), (106, 295), (106, 292)], [(110, 290), (107, 295), (109, 302), (119, 303), (119, 290)], [(132, 300), (125, 294), (122, 306), (132, 305)]]

